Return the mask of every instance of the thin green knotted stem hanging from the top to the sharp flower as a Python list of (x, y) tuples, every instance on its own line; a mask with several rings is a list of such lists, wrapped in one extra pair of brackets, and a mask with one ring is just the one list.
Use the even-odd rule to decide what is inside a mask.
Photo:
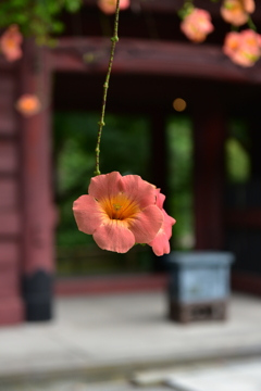
[(98, 129), (98, 138), (97, 138), (97, 146), (96, 146), (96, 171), (95, 171), (95, 175), (100, 175), (100, 141), (101, 141), (102, 128), (105, 125), (105, 123), (104, 123), (104, 114), (105, 114), (105, 104), (107, 104), (107, 92), (108, 92), (108, 89), (109, 89), (109, 81), (110, 81), (110, 76), (111, 76), (112, 63), (113, 63), (113, 59), (114, 59), (114, 51), (115, 51), (116, 42), (119, 41), (119, 37), (117, 37), (119, 14), (120, 14), (120, 0), (116, 0), (114, 29), (113, 29), (113, 37), (111, 38), (111, 41), (112, 41), (111, 55), (110, 55), (105, 83), (103, 84), (101, 117), (100, 117), (100, 121), (98, 122), (99, 129)]

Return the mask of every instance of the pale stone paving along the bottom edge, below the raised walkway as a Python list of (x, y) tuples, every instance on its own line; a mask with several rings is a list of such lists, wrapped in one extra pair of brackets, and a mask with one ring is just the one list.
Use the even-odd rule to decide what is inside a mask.
[[(132, 381), (133, 380), (133, 381)], [(135, 381), (134, 381), (135, 380)], [(0, 386), (4, 391), (260, 391), (261, 358), (223, 360), (186, 368), (136, 374), (129, 380), (89, 382), (83, 375), (67, 379), (27, 380)]]

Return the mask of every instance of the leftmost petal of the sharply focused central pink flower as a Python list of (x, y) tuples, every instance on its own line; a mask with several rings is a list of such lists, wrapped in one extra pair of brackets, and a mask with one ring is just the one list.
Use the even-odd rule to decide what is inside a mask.
[(102, 224), (102, 212), (98, 202), (90, 195), (80, 195), (73, 204), (73, 213), (78, 229), (92, 235)]

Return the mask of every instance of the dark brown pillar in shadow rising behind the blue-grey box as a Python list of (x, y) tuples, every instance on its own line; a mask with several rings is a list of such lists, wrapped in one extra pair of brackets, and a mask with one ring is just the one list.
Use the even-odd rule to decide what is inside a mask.
[[(199, 100), (194, 113), (196, 249), (223, 248), (224, 141), (226, 124), (219, 101)], [(203, 94), (202, 94), (203, 96)]]

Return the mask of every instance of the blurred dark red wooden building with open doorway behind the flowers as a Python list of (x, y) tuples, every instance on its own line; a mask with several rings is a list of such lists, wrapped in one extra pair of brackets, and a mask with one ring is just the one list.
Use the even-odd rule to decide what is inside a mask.
[[(132, 0), (120, 15), (101, 171), (138, 174), (167, 195), (177, 219), (172, 249), (236, 254), (233, 287), (261, 294), (261, 65), (240, 68), (222, 52), (229, 26), (192, 45), (179, 30), (178, 0)], [(137, 245), (101, 251), (79, 232), (73, 201), (94, 173), (97, 122), (113, 16), (85, 0), (62, 16), (53, 48), (24, 45), (0, 59), (0, 324), (51, 317), (57, 294), (163, 287), (164, 257)], [(261, 30), (261, 7), (253, 15)], [(44, 110), (15, 111), (22, 93)], [(53, 277), (54, 285), (53, 285)]]

